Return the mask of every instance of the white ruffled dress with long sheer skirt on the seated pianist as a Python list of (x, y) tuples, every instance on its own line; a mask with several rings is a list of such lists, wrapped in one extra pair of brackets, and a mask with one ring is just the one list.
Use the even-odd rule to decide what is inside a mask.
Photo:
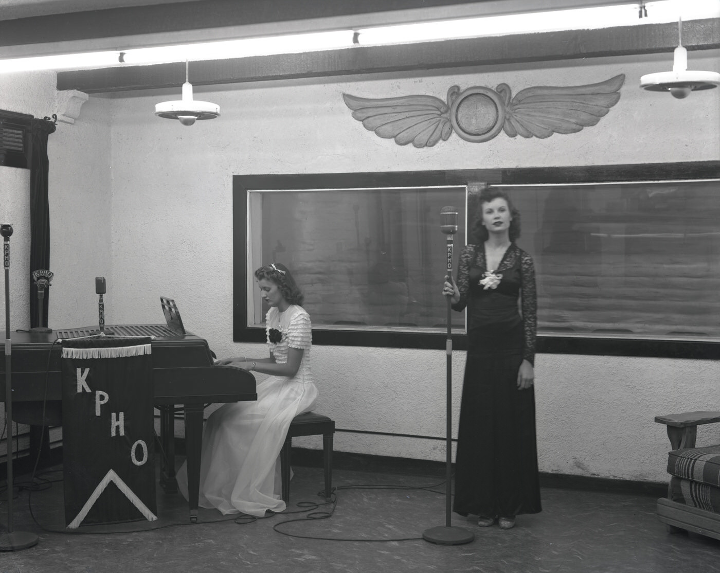
[[(271, 328), (282, 333), (279, 343), (269, 341)], [(310, 412), (318, 397), (310, 369), (310, 315), (297, 304), (284, 312), (271, 308), (266, 315), (266, 340), (280, 364), (287, 362), (289, 348), (302, 349), (300, 368), (294, 378), (268, 376), (258, 382), (256, 402), (225, 404), (212, 412), (202, 433), (200, 507), (258, 517), (266, 510), (285, 509), (280, 450), (292, 418)], [(187, 498), (186, 464), (177, 480)]]

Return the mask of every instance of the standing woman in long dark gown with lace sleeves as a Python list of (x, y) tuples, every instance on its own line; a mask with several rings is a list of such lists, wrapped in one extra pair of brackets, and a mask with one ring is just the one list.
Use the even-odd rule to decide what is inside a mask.
[[(536, 290), (532, 258), (514, 243), (520, 214), (502, 192), (483, 191), (472, 244), (444, 294), (467, 306), (468, 350), (460, 407), (454, 511), (478, 525), (541, 511), (535, 440)], [(518, 304), (519, 300), (519, 304)]]

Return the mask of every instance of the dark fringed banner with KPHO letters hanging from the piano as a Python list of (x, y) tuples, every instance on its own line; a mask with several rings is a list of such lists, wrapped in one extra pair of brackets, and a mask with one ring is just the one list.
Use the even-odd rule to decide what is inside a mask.
[(156, 520), (150, 337), (62, 347), (66, 525)]

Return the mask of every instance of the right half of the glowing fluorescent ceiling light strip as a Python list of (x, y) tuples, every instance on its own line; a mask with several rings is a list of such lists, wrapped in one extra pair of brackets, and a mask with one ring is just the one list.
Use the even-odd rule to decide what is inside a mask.
[(645, 7), (647, 17), (642, 18), (639, 17), (639, 4), (636, 2), (618, 6), (373, 27), (358, 30), (358, 42), (362, 45), (405, 44), (462, 37), (660, 24), (675, 22), (678, 17), (684, 20), (720, 17), (720, 0), (660, 0), (647, 2)]

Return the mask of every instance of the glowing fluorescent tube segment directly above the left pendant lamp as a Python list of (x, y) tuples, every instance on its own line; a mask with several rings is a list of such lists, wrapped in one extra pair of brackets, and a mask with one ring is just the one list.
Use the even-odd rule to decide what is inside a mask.
[(224, 60), (245, 58), (251, 55), (289, 54), (349, 48), (353, 45), (353, 31), (316, 32), (274, 37), (243, 38), (219, 42), (201, 42), (159, 48), (125, 50), (122, 60), (126, 64), (181, 62), (185, 60)]

